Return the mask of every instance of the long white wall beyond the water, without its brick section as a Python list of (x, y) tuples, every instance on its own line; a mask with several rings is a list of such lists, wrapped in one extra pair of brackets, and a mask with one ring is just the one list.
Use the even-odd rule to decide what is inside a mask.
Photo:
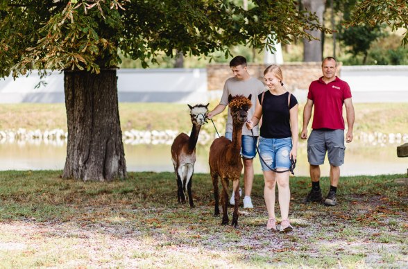
[[(119, 102), (206, 103), (220, 95), (207, 91), (205, 69), (119, 69), (117, 76)], [(53, 72), (38, 88), (36, 73), (2, 79), (0, 103), (63, 103), (63, 78)], [(408, 102), (408, 66), (343, 66), (341, 79), (350, 85), (355, 103)], [(294, 94), (303, 101), (307, 91)]]

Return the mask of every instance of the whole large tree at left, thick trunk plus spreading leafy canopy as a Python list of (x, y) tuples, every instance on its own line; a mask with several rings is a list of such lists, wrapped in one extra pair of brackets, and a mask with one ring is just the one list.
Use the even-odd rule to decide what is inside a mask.
[(228, 56), (239, 44), (262, 50), (272, 49), (275, 40), (312, 39), (305, 30), (322, 28), (293, 0), (257, 0), (248, 10), (225, 0), (0, 0), (0, 77), (64, 71), (68, 144), (62, 177), (113, 180), (126, 177), (119, 55), (147, 67), (162, 53), (211, 58), (214, 51)]

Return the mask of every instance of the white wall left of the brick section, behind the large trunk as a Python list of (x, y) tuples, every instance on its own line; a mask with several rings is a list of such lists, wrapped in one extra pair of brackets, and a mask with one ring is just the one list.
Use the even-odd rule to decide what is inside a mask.
[[(205, 69), (119, 69), (119, 102), (207, 102)], [(35, 86), (43, 81), (46, 85)], [(0, 103), (64, 103), (64, 74), (0, 80)]]

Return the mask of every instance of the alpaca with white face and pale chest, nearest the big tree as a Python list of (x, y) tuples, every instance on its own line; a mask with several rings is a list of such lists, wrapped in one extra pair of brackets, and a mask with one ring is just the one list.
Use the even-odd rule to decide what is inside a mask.
[(192, 117), (192, 132), (190, 137), (182, 132), (174, 139), (171, 145), (171, 161), (173, 161), (174, 172), (177, 176), (177, 200), (185, 203), (185, 190), (189, 196), (190, 207), (194, 207), (192, 197), (192, 176), (194, 173), (194, 163), (196, 162), (196, 144), (198, 134), (205, 121), (208, 112), (208, 105), (188, 105), (190, 116)]

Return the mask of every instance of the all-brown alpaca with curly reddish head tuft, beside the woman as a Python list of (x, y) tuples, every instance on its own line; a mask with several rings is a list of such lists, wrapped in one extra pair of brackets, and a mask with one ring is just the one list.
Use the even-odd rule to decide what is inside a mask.
[[(252, 105), (250, 103), (250, 96), (239, 95), (232, 97), (228, 96), (228, 103), (232, 116), (232, 141), (226, 139), (226, 137), (219, 137), (212, 142), (210, 147), (210, 174), (212, 178), (212, 186), (214, 187), (214, 215), (219, 215), (219, 187), (218, 177), (221, 177), (221, 185), (223, 191), (221, 195), (221, 206), (223, 207), (223, 220), (222, 225), (228, 224), (228, 184), (231, 180), (239, 181), (242, 171), (242, 162), (240, 157), (241, 151), (241, 135), (242, 126), (246, 123), (248, 118), (248, 110)], [(239, 184), (235, 191), (235, 206), (234, 213), (232, 214), (231, 225), (237, 227), (238, 225), (238, 204), (239, 204)]]

